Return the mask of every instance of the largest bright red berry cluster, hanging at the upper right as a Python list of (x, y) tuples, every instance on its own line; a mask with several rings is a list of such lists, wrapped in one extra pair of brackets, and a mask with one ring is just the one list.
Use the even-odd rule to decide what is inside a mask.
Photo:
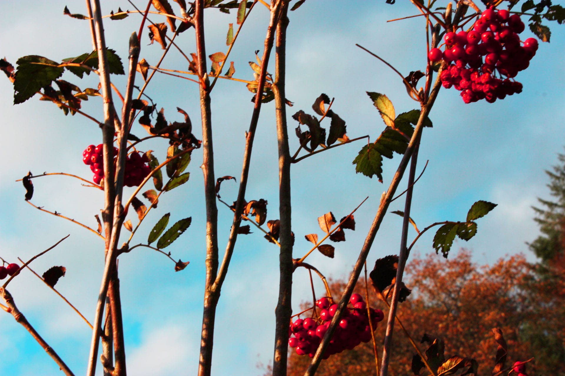
[(522, 91), (522, 84), (514, 77), (528, 68), (538, 48), (534, 38), (520, 45), (518, 34), (524, 27), (520, 15), (489, 8), (469, 32), (446, 33), (445, 50), (432, 48), (428, 57), (449, 64), (440, 74), (441, 83), (446, 89), (453, 86), (461, 91), (465, 103), (480, 99), (493, 103)]

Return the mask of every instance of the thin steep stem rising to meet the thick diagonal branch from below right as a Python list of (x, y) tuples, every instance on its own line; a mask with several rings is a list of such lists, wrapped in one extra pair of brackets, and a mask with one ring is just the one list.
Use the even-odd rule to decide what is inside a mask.
[(392, 304), (390, 304), (388, 322), (386, 322), (385, 341), (383, 345), (383, 360), (381, 361), (382, 376), (386, 376), (388, 374), (388, 365), (390, 360), (390, 351), (392, 347), (392, 337), (393, 337), (393, 329), (394, 329), (394, 318), (396, 317), (396, 310), (398, 307), (398, 297), (402, 286), (402, 276), (404, 274), (404, 267), (406, 266), (406, 260), (408, 258), (406, 242), (408, 238), (408, 226), (410, 225), (410, 208), (412, 206), (412, 191), (414, 185), (414, 176), (416, 175), (416, 163), (418, 163), (420, 136), (421, 134), (419, 134), (415, 140), (416, 142), (414, 147), (414, 153), (412, 153), (410, 171), (408, 172), (408, 190), (406, 192), (405, 205), (404, 205), (404, 218), (402, 220), (402, 235), (400, 240), (400, 251), (398, 253), (398, 268), (396, 272), (396, 282), (394, 282)]

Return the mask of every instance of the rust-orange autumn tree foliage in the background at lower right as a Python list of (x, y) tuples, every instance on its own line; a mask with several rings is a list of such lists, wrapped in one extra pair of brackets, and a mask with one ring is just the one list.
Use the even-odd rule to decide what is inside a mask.
[[(493, 266), (473, 263), (467, 250), (447, 260), (434, 254), (412, 256), (405, 278), (412, 294), (399, 304), (397, 316), (416, 343), (424, 333), (442, 338), (446, 359), (452, 355), (471, 357), (479, 362), (481, 375), (490, 374), (495, 364), (497, 343), (492, 328), (500, 328), (508, 345), (506, 366), (536, 357), (528, 364), (529, 376), (563, 376), (565, 282), (539, 278), (534, 269), (523, 255), (501, 259)], [(360, 278), (356, 292), (363, 296), (364, 286)], [(342, 291), (344, 287), (344, 281), (334, 281), (331, 290)], [(385, 312), (385, 320), (375, 331), (381, 357), (388, 309), (372, 287), (370, 301), (372, 307)], [(398, 325), (394, 332), (389, 375), (412, 375), (414, 348)], [(425, 344), (419, 346), (424, 352)], [(310, 358), (289, 350), (288, 375), (302, 375)], [(425, 368), (421, 372), (428, 374)], [(322, 361), (317, 374), (376, 375), (372, 343), (362, 343)]]

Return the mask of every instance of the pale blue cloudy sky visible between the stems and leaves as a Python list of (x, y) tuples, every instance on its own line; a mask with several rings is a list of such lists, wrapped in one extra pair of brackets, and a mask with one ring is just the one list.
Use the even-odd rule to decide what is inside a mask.
[[(89, 51), (88, 24), (63, 16), (66, 5), (71, 12), (85, 13), (83, 2), (3, 2), (0, 56), (6, 56), (14, 64), (18, 57), (25, 55), (61, 60)], [(144, 7), (141, 3), (138, 6)], [(132, 9), (127, 1), (103, 1), (102, 7), (104, 14), (116, 11), (118, 7)], [(384, 129), (384, 124), (365, 91), (388, 95), (397, 113), (416, 108), (398, 76), (355, 47), (355, 43), (359, 43), (372, 50), (402, 73), (423, 70), (423, 19), (416, 17), (386, 23), (386, 20), (412, 14), (416, 11), (407, 2), (390, 6), (381, 0), (308, 0), (298, 11), (291, 12), (286, 96), (294, 102), (294, 107), (288, 109), (289, 115), (299, 109), (311, 113), (311, 104), (325, 92), (335, 98), (332, 108), (346, 121), (349, 137), (368, 134), (373, 140)], [(225, 33), (228, 23), (235, 22), (235, 15), (209, 10), (205, 16), (207, 53), (225, 52)], [(140, 18), (131, 15), (122, 21), (105, 21), (107, 45), (123, 60), (127, 57), (128, 37), (139, 28)], [(158, 16), (152, 16), (152, 19), (160, 21)], [(255, 60), (255, 50), (262, 50), (267, 23), (267, 10), (258, 5), (234, 46), (230, 58), (235, 62), (234, 77), (253, 79), (247, 61)], [(534, 260), (525, 245), (538, 235), (531, 206), (536, 205), (536, 197), (548, 196), (544, 170), (557, 161), (556, 154), (563, 151), (565, 141), (562, 130), (565, 39), (562, 26), (552, 24), (551, 29), (551, 43), (541, 44), (530, 67), (517, 77), (524, 85), (521, 94), (494, 104), (485, 101), (464, 104), (454, 89), (441, 90), (430, 115), (434, 127), (424, 131), (419, 170), (426, 160), (429, 164), (416, 184), (412, 218), (421, 228), (436, 221), (463, 220), (468, 208), (477, 200), (498, 204), (492, 213), (479, 220), (475, 238), (454, 245), (454, 249), (461, 246), (472, 249), (473, 257), (479, 263), (493, 263), (505, 254), (519, 252)], [(521, 39), (529, 36), (526, 31), (521, 34)], [(147, 41), (145, 32), (141, 57), (155, 64), (162, 50), (157, 44), (146, 46)], [(192, 30), (180, 34), (177, 42), (185, 52), (194, 52)], [(162, 66), (185, 70), (187, 64), (172, 50)], [(273, 71), (273, 65), (270, 71)], [(63, 78), (81, 89), (97, 85), (95, 77), (79, 81), (66, 74)], [(116, 86), (124, 86), (123, 77), (113, 77), (112, 80)], [(158, 75), (147, 94), (159, 108), (164, 108), (168, 121), (182, 119), (176, 113), (176, 107), (186, 110), (192, 118), (195, 135), (201, 137), (197, 86)], [(72, 223), (34, 210), (23, 200), (24, 189), (15, 180), (28, 170), (34, 174), (64, 171), (90, 178), (88, 167), (81, 161), (81, 153), (89, 144), (100, 142), (100, 131), (94, 123), (79, 115), (63, 116), (55, 105), (38, 101), (37, 96), (14, 106), (12, 95), (10, 82), (0, 80), (0, 113), (3, 115), (0, 158), (5, 161), (0, 165), (0, 205), (3, 208), (0, 256), (10, 262), (18, 256), (28, 259), (70, 234), (63, 244), (35, 260), (32, 267), (43, 272), (53, 265), (66, 266), (67, 275), (59, 281), (57, 288), (92, 319), (103, 268), (102, 242)], [(224, 80), (218, 82), (212, 93), (217, 176), (233, 175), (239, 180), (245, 130), (249, 127), (253, 109), (250, 98), (244, 84)], [(86, 112), (102, 118), (100, 104), (98, 98), (83, 102)], [(273, 104), (264, 105), (246, 197), (248, 201), (266, 199), (269, 202), (268, 219), (278, 217), (278, 162), (273, 152), (276, 150), (273, 114)], [(292, 152), (298, 147), (293, 132), (295, 126), (289, 116)], [(138, 136), (145, 134), (141, 127), (132, 132)], [(355, 214), (356, 231), (347, 231), (347, 241), (335, 244), (334, 259), (316, 253), (308, 257), (308, 262), (334, 278), (349, 275), (381, 193), (388, 187), (399, 161), (398, 157), (385, 160), (384, 184), (355, 174), (351, 161), (362, 142), (320, 153), (292, 166), (293, 230), (297, 235), (295, 257), (310, 248), (310, 243), (303, 240), (304, 235), (321, 233), (318, 216), (333, 211), (337, 218), (341, 218), (370, 196)], [(166, 146), (163, 142), (153, 141), (141, 150), (152, 149), (163, 160)], [(164, 213), (171, 212), (171, 221), (192, 216), (191, 227), (168, 248), (173, 257), (190, 261), (189, 266), (175, 273), (170, 260), (143, 248), (120, 256), (128, 370), (132, 375), (196, 374), (205, 275), (201, 155), (201, 151), (193, 153), (188, 167), (191, 172), (189, 182), (162, 196), (158, 209), (152, 211), (142, 224), (137, 242), (136, 238), (132, 242), (144, 242), (153, 224)], [(34, 204), (95, 225), (93, 216), (103, 206), (101, 192), (60, 176), (38, 178), (33, 183), (36, 189)], [(222, 198), (233, 201), (237, 187), (233, 182), (223, 183)], [(232, 214), (223, 205), (218, 207), (220, 254), (223, 254)], [(398, 200), (390, 210), (402, 210), (402, 207)], [(132, 222), (134, 220), (132, 218)], [(385, 218), (368, 257), (369, 264), (384, 255), (397, 253), (400, 227), (399, 216)], [(433, 233), (423, 236), (416, 249), (420, 253), (432, 251), (432, 237)], [(267, 243), (258, 232), (240, 236), (219, 303), (212, 374), (261, 374), (256, 365), (258, 362), (268, 364), (272, 357), (277, 286), (277, 247)], [(84, 372), (91, 335), (88, 326), (31, 273), (22, 273), (9, 287), (18, 307), (47, 342), (75, 373)], [(315, 287), (322, 294), (321, 284), (316, 281)], [(339, 294), (339, 291), (334, 293)], [(293, 283), (294, 311), (300, 302), (310, 298), (307, 273), (297, 271)], [(0, 326), (3, 372), (12, 375), (60, 374), (54, 362), (10, 315), (0, 315)]]

